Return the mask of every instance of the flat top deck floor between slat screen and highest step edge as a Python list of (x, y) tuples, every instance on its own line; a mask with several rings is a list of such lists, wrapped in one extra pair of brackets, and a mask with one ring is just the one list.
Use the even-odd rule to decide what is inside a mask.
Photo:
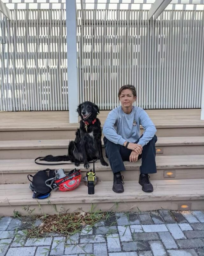
[[(98, 115), (103, 126), (110, 111)], [(200, 109), (151, 109), (146, 110), (157, 128), (204, 127)], [(69, 111), (0, 112), (0, 131), (73, 130), (79, 124), (69, 123)]]

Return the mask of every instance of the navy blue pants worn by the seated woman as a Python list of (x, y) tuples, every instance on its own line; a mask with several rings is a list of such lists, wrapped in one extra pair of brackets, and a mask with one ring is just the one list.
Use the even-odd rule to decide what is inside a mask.
[[(143, 136), (143, 135), (142, 135)], [(141, 137), (142, 137), (141, 136)], [(141, 138), (140, 137), (140, 138)], [(132, 152), (131, 149), (125, 148), (119, 144), (115, 144), (108, 140), (106, 137), (103, 139), (106, 157), (108, 157), (113, 173), (125, 171), (123, 161), (129, 161), (129, 156)], [(135, 142), (138, 143), (139, 139)], [(157, 136), (154, 135), (147, 145), (142, 148), (142, 154), (138, 156), (138, 160), (142, 158), (142, 165), (140, 166), (141, 173), (156, 173), (157, 167), (155, 162)]]

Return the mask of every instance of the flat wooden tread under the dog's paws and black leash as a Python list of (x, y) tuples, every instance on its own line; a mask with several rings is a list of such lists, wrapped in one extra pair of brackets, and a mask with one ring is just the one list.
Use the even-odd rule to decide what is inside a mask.
[[(108, 159), (106, 159), (108, 162)], [(41, 161), (42, 163), (47, 163)], [(63, 162), (58, 162), (63, 163)], [(67, 162), (69, 163), (69, 162)], [(136, 162), (124, 162), (127, 170), (137, 170), (141, 165), (141, 159)], [(203, 168), (204, 167), (204, 155), (179, 155), (179, 156), (156, 156), (157, 169), (173, 169), (173, 168)], [(35, 173), (37, 170), (43, 169), (59, 169), (66, 170), (74, 169), (74, 164), (63, 165), (38, 165), (34, 163), (34, 159), (3, 159), (0, 160), (0, 173), (18, 173), (18, 172), (30, 172)], [(92, 168), (92, 164), (90, 164)], [(78, 167), (81, 171), (87, 171), (84, 169), (83, 164)], [(111, 171), (110, 165), (103, 166), (98, 160), (95, 164), (96, 171)]]

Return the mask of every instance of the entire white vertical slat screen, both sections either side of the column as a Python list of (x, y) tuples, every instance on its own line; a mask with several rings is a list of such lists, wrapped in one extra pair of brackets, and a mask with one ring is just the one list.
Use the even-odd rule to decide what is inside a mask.
[[(65, 10), (12, 10), (11, 17), (0, 16), (0, 110), (67, 110)], [(133, 84), (142, 108), (201, 107), (204, 12), (147, 17), (77, 11), (80, 102), (113, 109), (119, 88)]]

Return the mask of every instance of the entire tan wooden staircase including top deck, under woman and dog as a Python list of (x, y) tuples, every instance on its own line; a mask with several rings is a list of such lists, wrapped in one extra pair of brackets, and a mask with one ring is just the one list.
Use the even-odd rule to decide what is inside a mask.
[[(0, 184), (1, 214), (10, 216), (15, 209), (25, 215), (26, 212), (22, 210), (22, 206), (27, 204), (37, 209), (34, 214), (40, 213), (39, 204), (40, 210), (42, 209), (40, 214), (56, 213), (55, 209), (53, 210), (53, 207), (47, 203), (48, 200), (51, 204), (55, 204), (58, 210), (64, 207), (69, 209), (69, 212), (76, 211), (79, 208), (89, 211), (92, 203), (96, 208), (98, 207), (97, 209), (107, 211), (114, 207), (115, 202), (118, 202), (116, 210), (125, 211), (138, 210), (138, 208), (141, 211), (162, 208), (178, 210), (179, 204), (189, 204), (192, 210), (203, 210), (204, 155), (198, 155), (200, 151), (192, 155), (196, 150), (195, 145), (198, 145), (198, 148), (204, 145), (204, 120), (200, 120), (200, 111), (200, 109), (147, 110), (156, 127), (160, 128), (157, 129), (157, 133), (159, 131), (161, 133), (158, 136), (157, 147), (167, 146), (164, 147), (165, 151), (169, 146), (170, 148), (177, 148), (179, 152), (183, 152), (182, 145), (184, 148), (192, 149), (192, 151), (185, 151), (182, 155), (173, 151), (173, 155), (156, 156), (157, 174), (150, 175), (154, 186), (153, 193), (143, 192), (138, 184), (141, 160), (137, 163), (125, 162), (128, 172), (124, 173), (125, 192), (122, 194), (112, 191), (113, 174), (110, 166), (102, 166), (98, 161), (96, 171), (99, 181), (94, 196), (88, 195), (87, 187), (81, 182), (76, 190), (67, 193), (59, 190), (52, 191), (49, 199), (40, 200), (40, 202), (32, 199), (32, 191), (29, 189), (28, 183), (17, 183), (28, 182), (27, 174), (34, 174), (38, 170), (64, 168), (65, 171), (68, 171), (75, 168), (75, 166), (74, 164), (37, 165), (34, 163), (34, 159), (30, 159), (34, 157), (31, 150), (43, 151), (44, 148), (56, 148), (57, 150), (67, 148), (68, 139), (73, 138), (79, 124), (69, 124), (69, 111), (0, 112), (0, 132), (2, 136), (0, 150), (4, 151), (5, 149), (7, 150), (6, 154), (13, 154), (9, 157), (11, 159), (3, 158), (0, 160), (0, 181), (2, 181), (0, 183), (11, 183)], [(100, 111), (98, 117), (102, 125), (108, 113), (109, 111)], [(55, 137), (55, 133), (57, 135), (62, 133), (62, 135)], [(65, 136), (67, 133), (72, 135)], [(200, 137), (197, 137), (199, 135)], [(178, 137), (175, 138), (175, 136)], [(191, 147), (192, 145), (194, 148)], [(28, 151), (27, 157), (29, 159), (14, 159), (16, 158), (15, 150), (20, 151), (19, 154), (22, 154), (24, 158), (25, 152)], [(170, 153), (172, 152), (168, 151), (168, 154)], [(84, 169), (83, 164), (79, 168), (82, 170), (82, 176), (84, 176), (87, 170)], [(164, 172), (166, 171), (175, 171), (175, 178), (164, 178)], [(106, 180), (104, 175), (107, 177)]]

